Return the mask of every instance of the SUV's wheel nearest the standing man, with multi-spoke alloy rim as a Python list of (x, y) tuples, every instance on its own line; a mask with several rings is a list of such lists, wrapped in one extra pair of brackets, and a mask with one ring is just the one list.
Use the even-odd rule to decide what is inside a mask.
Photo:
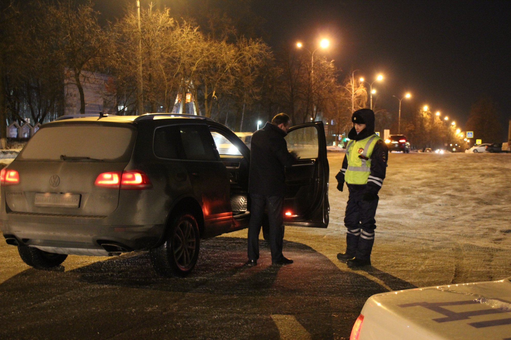
[(149, 251), (155, 272), (166, 277), (187, 276), (197, 263), (199, 246), (200, 234), (195, 217), (189, 213), (177, 215), (164, 244)]

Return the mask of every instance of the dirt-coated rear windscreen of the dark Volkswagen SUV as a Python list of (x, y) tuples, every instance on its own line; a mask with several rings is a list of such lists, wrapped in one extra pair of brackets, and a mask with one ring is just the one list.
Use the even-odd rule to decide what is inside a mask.
[(44, 127), (37, 131), (21, 151), (17, 160), (129, 161), (135, 129), (99, 125), (67, 125)]

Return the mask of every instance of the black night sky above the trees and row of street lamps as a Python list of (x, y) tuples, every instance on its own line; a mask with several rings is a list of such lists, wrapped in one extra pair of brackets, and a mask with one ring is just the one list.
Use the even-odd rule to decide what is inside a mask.
[[(171, 9), (173, 1), (179, 0), (160, 0)], [(120, 3), (97, 6), (120, 12)], [(313, 50), (327, 37), (331, 47), (315, 56), (334, 59), (342, 76), (360, 69), (357, 78), (370, 80), (381, 72), (384, 82), (373, 87), (378, 105), (391, 113), (397, 115), (399, 105), (392, 95), (409, 91), (413, 98), (403, 100), (402, 114), (427, 104), (463, 127), (471, 105), (488, 94), (499, 104), (507, 135), (511, 2), (253, 0), (253, 11), (266, 19), (275, 51), (298, 40)]]

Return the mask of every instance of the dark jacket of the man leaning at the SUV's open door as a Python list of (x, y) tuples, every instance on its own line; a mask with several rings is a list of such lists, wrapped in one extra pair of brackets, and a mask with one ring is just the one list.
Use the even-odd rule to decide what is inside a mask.
[(286, 174), (295, 158), (289, 153), (284, 137), (287, 133), (267, 122), (250, 140), (250, 172), (248, 191), (263, 196), (284, 196)]

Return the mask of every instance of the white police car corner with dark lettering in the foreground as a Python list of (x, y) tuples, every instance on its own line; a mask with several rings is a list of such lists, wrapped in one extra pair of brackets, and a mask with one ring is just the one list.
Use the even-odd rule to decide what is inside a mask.
[(376, 294), (350, 340), (511, 339), (511, 277)]

